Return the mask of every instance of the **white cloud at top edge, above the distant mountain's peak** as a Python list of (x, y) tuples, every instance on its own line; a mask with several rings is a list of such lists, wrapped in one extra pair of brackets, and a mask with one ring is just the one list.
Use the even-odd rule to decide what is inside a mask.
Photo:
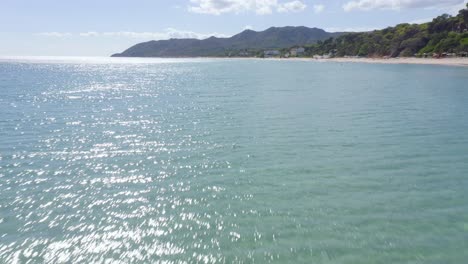
[(307, 5), (300, 0), (190, 0), (188, 10), (193, 13), (221, 15), (224, 13), (255, 12), (258, 15), (276, 12), (300, 12)]

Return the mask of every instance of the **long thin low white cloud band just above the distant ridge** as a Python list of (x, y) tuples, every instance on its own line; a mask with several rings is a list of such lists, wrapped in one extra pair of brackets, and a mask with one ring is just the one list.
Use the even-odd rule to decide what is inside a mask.
[(171, 39), (171, 38), (195, 38), (195, 39), (204, 39), (211, 36), (215, 37), (229, 37), (225, 34), (219, 33), (198, 33), (193, 31), (178, 30), (175, 28), (167, 28), (162, 32), (133, 32), (133, 31), (116, 31), (116, 32), (82, 32), (77, 34), (72, 33), (61, 33), (61, 32), (43, 32), (34, 34), (36, 36), (43, 37), (119, 37), (119, 38), (134, 38), (134, 39)]

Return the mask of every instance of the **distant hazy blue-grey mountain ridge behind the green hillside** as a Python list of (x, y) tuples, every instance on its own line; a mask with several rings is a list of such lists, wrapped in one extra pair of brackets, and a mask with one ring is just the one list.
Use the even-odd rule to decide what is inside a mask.
[(310, 45), (342, 34), (305, 26), (270, 27), (264, 31), (246, 29), (228, 38), (151, 40), (112, 57), (252, 56), (265, 49)]

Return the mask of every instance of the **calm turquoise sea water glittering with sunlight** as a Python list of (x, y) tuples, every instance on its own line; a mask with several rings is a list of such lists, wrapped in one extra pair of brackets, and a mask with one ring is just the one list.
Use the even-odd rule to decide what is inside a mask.
[(0, 263), (467, 263), (468, 68), (0, 62)]

